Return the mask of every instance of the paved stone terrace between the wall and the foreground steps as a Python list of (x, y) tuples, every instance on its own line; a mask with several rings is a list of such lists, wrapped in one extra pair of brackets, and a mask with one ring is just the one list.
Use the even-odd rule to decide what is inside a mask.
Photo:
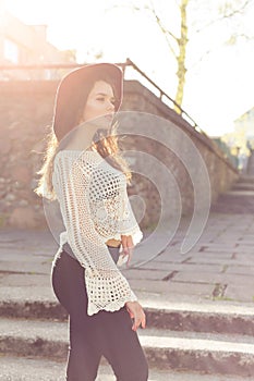
[[(123, 268), (132, 288), (149, 306), (232, 305), (254, 310), (254, 216), (210, 213), (189, 253), (180, 253), (186, 221), (170, 245), (137, 269)], [(148, 233), (145, 233), (148, 236)], [(158, 250), (157, 234), (150, 253)], [(0, 298), (50, 299), (50, 269), (57, 250), (49, 231), (0, 231)]]

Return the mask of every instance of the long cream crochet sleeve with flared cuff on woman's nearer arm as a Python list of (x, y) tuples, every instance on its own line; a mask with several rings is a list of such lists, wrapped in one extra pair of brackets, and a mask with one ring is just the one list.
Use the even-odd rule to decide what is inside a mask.
[(55, 159), (53, 187), (60, 204), (68, 242), (84, 267), (88, 295), (87, 314), (114, 311), (136, 300), (126, 279), (113, 262), (107, 245), (95, 230), (89, 210), (90, 165), (84, 156)]

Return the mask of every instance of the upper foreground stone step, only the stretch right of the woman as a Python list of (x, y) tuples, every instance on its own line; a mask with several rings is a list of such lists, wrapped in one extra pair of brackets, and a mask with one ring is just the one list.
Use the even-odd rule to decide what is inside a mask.
[[(142, 300), (141, 300), (142, 302)], [(149, 327), (171, 331), (254, 335), (253, 308), (219, 304), (157, 303), (145, 306)]]

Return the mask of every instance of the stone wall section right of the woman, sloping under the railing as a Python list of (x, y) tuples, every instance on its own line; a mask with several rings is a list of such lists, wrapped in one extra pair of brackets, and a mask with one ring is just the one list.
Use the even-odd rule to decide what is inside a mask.
[[(152, 91), (149, 91), (144, 86), (141, 86), (140, 83), (133, 81), (125, 84), (125, 102), (122, 107), (122, 110), (144, 111), (154, 115), (162, 116), (167, 121), (171, 122), (171, 124), (176, 127), (181, 128), (184, 134), (191, 138), (198, 152), (201, 153), (208, 171), (211, 202), (215, 202), (219, 194), (228, 190), (238, 180), (239, 172), (223, 157), (223, 152), (218, 148), (215, 142), (213, 142), (205, 133), (196, 131), (177, 112), (162, 103)], [(166, 142), (170, 138), (176, 138), (176, 136), (165, 136)], [(134, 144), (130, 144), (130, 146), (132, 145), (136, 145), (138, 146), (138, 149), (142, 149), (142, 144), (137, 140)], [(184, 144), (179, 137), (177, 145), (179, 145), (179, 151), (181, 149), (184, 149)], [(161, 147), (160, 144), (155, 144), (154, 142), (150, 144), (143, 143), (143, 146), (145, 151), (149, 152), (152, 156), (156, 156), (160, 162), (164, 162), (167, 168), (169, 168), (170, 172), (177, 180), (180, 189), (182, 214), (192, 214), (195, 200), (193, 194), (193, 184), (186, 168), (183, 165), (181, 160), (179, 160), (179, 158), (173, 155), (172, 151), (169, 151), (165, 147)], [(136, 183), (138, 182), (140, 180), (136, 181)], [(203, 186), (202, 183), (196, 185), (199, 187)], [(144, 192), (143, 196), (146, 200), (147, 198), (149, 199), (147, 201), (147, 205), (153, 210), (153, 216), (149, 214), (149, 212), (146, 213), (145, 225), (147, 225), (149, 224), (149, 221), (158, 220), (160, 202), (158, 195), (156, 197), (155, 204), (153, 202), (155, 194)]]

